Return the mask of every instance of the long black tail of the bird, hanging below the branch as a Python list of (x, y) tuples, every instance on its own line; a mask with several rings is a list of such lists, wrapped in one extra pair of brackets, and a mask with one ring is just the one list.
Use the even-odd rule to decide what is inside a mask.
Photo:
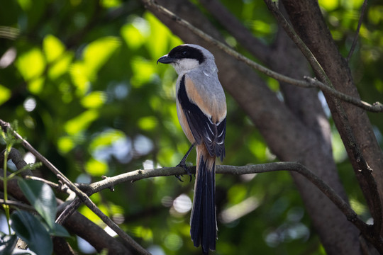
[(194, 246), (202, 246), (204, 254), (216, 249), (216, 158), (199, 155), (194, 186), (190, 236)]

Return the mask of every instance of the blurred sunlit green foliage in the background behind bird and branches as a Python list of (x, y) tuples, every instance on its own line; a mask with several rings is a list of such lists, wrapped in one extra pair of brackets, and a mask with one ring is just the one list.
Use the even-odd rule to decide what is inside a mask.
[[(99, 181), (101, 175), (179, 162), (189, 142), (175, 109), (177, 75), (172, 67), (156, 65), (156, 60), (182, 42), (140, 1), (0, 2), (2, 120), (18, 120), (21, 135), (72, 181)], [(272, 42), (277, 24), (262, 1), (222, 2), (257, 38)], [(362, 0), (319, 4), (335, 42), (347, 56)], [(369, 1), (360, 43), (350, 61), (357, 88), (368, 102), (383, 98), (382, 14), (382, 3)], [(231, 35), (223, 34), (243, 52)], [(275, 81), (270, 86), (278, 91)], [(230, 96), (227, 102), (224, 164), (276, 160)], [(371, 114), (370, 119), (382, 145), (383, 118)], [(333, 138), (351, 204), (367, 219), (335, 128)], [(195, 163), (194, 158), (192, 152), (189, 161)], [(57, 181), (45, 167), (35, 173)], [(219, 175), (216, 185), (216, 254), (324, 254), (288, 173)], [(102, 191), (91, 198), (153, 254), (200, 254), (189, 237), (192, 188), (193, 183), (161, 177), (124, 183), (114, 193)], [(89, 209), (79, 210), (105, 227)], [(68, 241), (77, 247), (75, 239)]]

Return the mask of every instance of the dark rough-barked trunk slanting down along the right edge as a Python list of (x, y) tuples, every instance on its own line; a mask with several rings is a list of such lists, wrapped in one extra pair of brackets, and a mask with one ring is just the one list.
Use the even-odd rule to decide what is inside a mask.
[[(318, 2), (314, 0), (283, 0), (283, 4), (287, 9), (294, 30), (296, 30), (299, 37), (309, 47), (311, 52), (313, 52), (313, 55), (323, 67), (335, 89), (354, 96), (355, 98), (360, 98), (348, 62), (340, 55), (338, 47), (336, 47), (331, 33), (323, 20)], [(367, 204), (370, 207), (372, 215), (374, 215), (374, 205), (372, 202), (372, 196), (374, 195), (370, 192), (371, 187), (359, 171), (359, 162), (353, 153), (354, 145), (349, 144), (347, 138), (348, 132), (342, 125), (340, 113), (337, 111), (333, 98), (326, 93), (325, 96), (340, 137), (342, 137), (345, 143), (348, 157), (353, 164), (354, 172), (365, 194)], [(348, 103), (341, 103), (341, 105), (345, 109), (348, 122), (350, 123), (356, 143), (360, 147), (362, 156), (373, 170), (372, 174), (377, 182), (381, 203), (383, 203), (383, 153), (374, 136), (370, 120), (367, 113), (362, 109), (351, 106)]]

